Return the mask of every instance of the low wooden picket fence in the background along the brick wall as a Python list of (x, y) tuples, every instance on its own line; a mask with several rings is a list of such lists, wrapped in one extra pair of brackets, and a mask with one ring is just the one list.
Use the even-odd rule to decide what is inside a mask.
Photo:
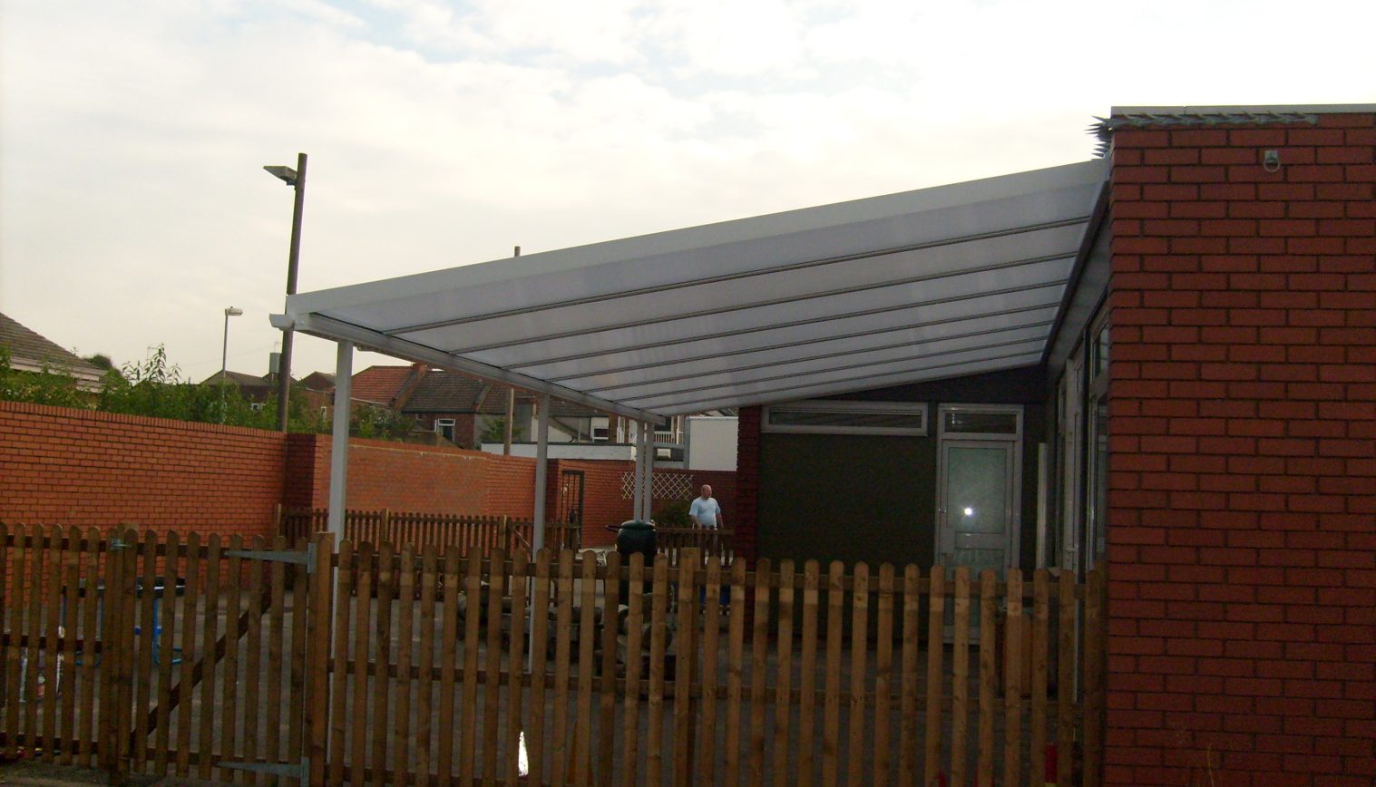
[[(283, 508), (274, 513), (274, 532), (296, 543), (327, 530), (329, 509)], [(417, 513), (381, 510), (345, 510), (344, 538), (356, 542), (413, 543), (421, 548), (433, 543), (440, 552), (458, 546), (468, 554), (472, 549), (501, 549), (510, 554), (517, 549), (530, 549), (534, 538), (534, 524), (506, 516), (458, 516), (447, 513)], [(545, 524), (545, 543), (549, 549), (578, 549), (582, 546), (582, 528), (578, 524), (552, 521)]]

